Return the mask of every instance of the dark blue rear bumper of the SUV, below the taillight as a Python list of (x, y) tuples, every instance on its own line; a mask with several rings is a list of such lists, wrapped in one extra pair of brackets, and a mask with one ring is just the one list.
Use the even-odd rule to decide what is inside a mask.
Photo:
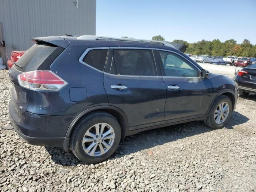
[(24, 112), (20, 116), (9, 103), (9, 118), (14, 130), (28, 144), (64, 147), (68, 126), (73, 116), (48, 116)]

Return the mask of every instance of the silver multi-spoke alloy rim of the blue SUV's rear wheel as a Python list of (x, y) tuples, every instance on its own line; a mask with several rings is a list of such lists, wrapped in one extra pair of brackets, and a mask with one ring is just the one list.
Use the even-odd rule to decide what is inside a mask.
[(84, 152), (90, 156), (101, 156), (108, 152), (115, 140), (112, 126), (98, 123), (90, 127), (84, 134), (82, 145)]

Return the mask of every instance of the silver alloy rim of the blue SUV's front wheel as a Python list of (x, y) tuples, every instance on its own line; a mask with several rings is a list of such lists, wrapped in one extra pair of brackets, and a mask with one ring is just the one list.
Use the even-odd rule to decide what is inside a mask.
[(229, 114), (229, 105), (227, 102), (221, 102), (214, 113), (214, 121), (216, 124), (222, 124), (226, 121)]

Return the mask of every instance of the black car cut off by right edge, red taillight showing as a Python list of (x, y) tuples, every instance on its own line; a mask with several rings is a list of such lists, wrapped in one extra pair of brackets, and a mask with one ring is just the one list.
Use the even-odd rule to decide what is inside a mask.
[(256, 93), (256, 64), (238, 71), (235, 81), (238, 84), (240, 96), (248, 96), (249, 93)]

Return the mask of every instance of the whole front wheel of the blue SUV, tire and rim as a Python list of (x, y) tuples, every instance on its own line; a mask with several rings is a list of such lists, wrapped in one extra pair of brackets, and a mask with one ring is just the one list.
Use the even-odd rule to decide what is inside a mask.
[(223, 128), (232, 113), (232, 101), (228, 96), (221, 95), (214, 105), (204, 123), (213, 129)]

